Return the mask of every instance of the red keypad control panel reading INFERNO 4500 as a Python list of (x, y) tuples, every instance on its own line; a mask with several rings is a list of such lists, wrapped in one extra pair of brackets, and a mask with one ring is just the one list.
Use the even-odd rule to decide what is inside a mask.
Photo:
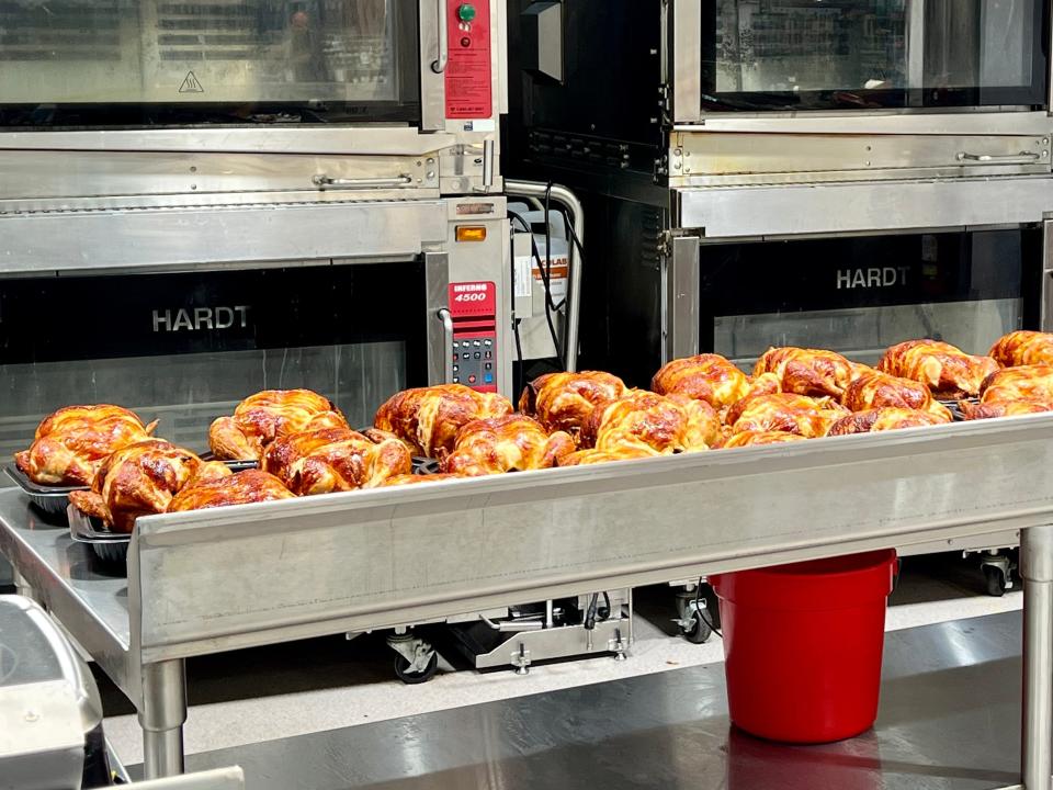
[(453, 318), (453, 383), (497, 392), (497, 286), (450, 283)]

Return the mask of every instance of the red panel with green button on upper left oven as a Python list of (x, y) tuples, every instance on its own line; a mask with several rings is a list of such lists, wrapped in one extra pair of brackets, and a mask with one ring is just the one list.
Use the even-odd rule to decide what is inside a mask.
[(446, 117), (489, 119), (494, 114), (489, 0), (446, 0)]

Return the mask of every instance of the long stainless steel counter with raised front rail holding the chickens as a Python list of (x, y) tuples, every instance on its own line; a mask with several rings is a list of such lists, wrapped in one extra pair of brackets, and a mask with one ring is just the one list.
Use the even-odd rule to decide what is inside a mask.
[(0, 493), (0, 551), (182, 770), (183, 659), (522, 600), (1022, 530), (1028, 790), (1050, 790), (1053, 415), (139, 519), (128, 577)]

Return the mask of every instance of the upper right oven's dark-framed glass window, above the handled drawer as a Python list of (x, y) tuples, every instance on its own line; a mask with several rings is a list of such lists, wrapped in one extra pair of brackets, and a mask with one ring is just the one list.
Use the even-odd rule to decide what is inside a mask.
[(1041, 105), (1041, 0), (716, 0), (709, 110)]

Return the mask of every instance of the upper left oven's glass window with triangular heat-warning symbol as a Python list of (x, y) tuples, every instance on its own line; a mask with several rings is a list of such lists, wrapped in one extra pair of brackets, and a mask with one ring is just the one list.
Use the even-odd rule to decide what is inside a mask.
[(0, 125), (415, 122), (416, 3), (5, 0)]

